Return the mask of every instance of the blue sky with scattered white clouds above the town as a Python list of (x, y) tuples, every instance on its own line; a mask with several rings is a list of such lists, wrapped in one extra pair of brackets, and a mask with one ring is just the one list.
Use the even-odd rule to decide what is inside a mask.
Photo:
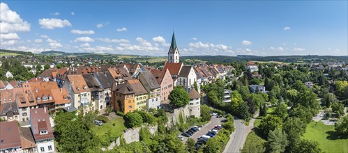
[(348, 55), (348, 1), (1, 1), (0, 48), (167, 56)]

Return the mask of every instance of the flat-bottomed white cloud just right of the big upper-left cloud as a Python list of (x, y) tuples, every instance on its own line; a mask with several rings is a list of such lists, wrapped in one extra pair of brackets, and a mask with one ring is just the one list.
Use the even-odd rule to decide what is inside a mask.
[(55, 28), (63, 28), (64, 26), (71, 26), (70, 22), (66, 19), (56, 19), (56, 18), (43, 18), (38, 19), (38, 24), (41, 25), (43, 29), (55, 29)]

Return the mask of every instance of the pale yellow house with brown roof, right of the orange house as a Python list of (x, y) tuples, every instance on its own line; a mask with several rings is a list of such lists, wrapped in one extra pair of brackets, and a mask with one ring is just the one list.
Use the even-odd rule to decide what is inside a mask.
[(130, 83), (130, 86), (135, 92), (135, 110), (146, 111), (146, 102), (149, 95), (148, 92), (139, 80), (128, 80), (128, 83)]

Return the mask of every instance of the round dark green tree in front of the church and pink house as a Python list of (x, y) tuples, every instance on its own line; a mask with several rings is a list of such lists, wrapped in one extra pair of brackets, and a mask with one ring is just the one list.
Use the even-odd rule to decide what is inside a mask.
[(181, 86), (177, 86), (170, 92), (168, 99), (170, 100), (169, 104), (176, 107), (183, 107), (190, 102), (190, 95)]

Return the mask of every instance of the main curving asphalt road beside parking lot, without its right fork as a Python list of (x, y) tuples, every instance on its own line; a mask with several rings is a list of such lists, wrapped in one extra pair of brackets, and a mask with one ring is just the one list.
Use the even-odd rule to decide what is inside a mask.
[(245, 142), (245, 125), (243, 120), (234, 117), (234, 127), (236, 130), (229, 136), (229, 141), (224, 150), (226, 153), (240, 152), (239, 150)]

